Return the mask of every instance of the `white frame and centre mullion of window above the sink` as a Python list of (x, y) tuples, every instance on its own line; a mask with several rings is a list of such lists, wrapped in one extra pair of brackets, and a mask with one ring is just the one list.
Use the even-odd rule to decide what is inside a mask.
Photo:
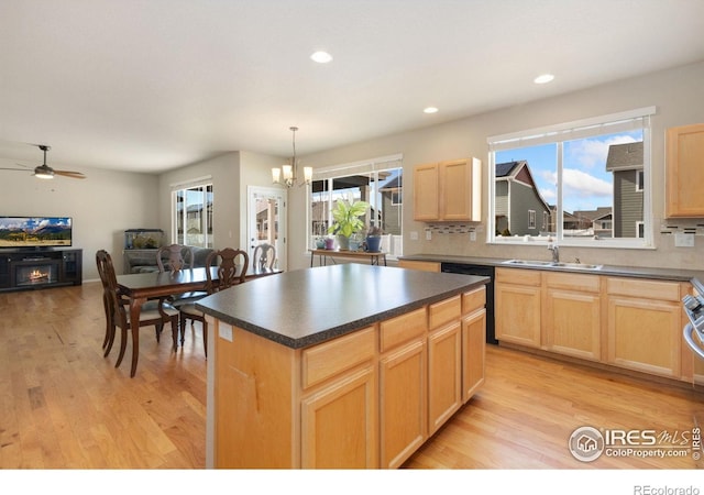
[[(518, 244), (525, 242), (525, 237), (504, 238), (495, 234), (496, 206), (494, 204), (496, 195), (496, 157), (495, 152), (528, 147), (538, 144), (556, 143), (558, 145), (558, 199), (557, 199), (557, 242), (561, 245), (574, 245), (586, 248), (622, 248), (622, 249), (654, 249), (652, 230), (652, 180), (651, 180), (651, 130), (650, 117), (656, 114), (656, 107), (646, 107), (636, 110), (610, 113), (601, 117), (582, 119), (544, 128), (530, 129), (508, 134), (488, 136), (488, 222), (486, 242), (490, 244)], [(597, 136), (607, 133), (615, 133), (625, 130), (642, 129), (644, 140), (644, 168), (642, 176), (647, 187), (644, 187), (644, 238), (564, 238), (563, 212), (562, 212), (562, 143), (570, 140)], [(536, 242), (553, 242), (550, 237), (531, 237)]]

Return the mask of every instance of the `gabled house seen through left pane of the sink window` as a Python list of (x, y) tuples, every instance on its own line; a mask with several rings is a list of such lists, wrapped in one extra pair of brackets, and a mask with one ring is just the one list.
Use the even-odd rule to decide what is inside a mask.
[(552, 232), (550, 206), (542, 199), (528, 162), (496, 164), (496, 231), (510, 235), (539, 235)]

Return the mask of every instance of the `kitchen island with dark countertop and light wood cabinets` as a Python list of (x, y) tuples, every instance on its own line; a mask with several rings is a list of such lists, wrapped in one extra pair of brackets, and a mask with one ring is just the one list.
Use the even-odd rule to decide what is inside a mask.
[(483, 384), (486, 282), (344, 264), (202, 299), (207, 466), (399, 466)]

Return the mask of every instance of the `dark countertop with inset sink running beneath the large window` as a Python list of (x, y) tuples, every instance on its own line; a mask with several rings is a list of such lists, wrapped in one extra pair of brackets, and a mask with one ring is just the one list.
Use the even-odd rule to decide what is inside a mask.
[(486, 266), (503, 266), (506, 268), (520, 268), (520, 270), (542, 270), (542, 271), (556, 271), (556, 272), (572, 272), (572, 273), (585, 273), (592, 275), (610, 275), (620, 277), (634, 277), (634, 278), (654, 278), (662, 280), (674, 282), (689, 282), (692, 278), (698, 278), (704, 280), (704, 272), (696, 270), (681, 270), (681, 268), (649, 268), (640, 266), (618, 266), (618, 265), (602, 265), (598, 270), (574, 270), (568, 267), (553, 267), (553, 266), (527, 266), (527, 265), (512, 265), (506, 264), (508, 261), (505, 257), (474, 257), (474, 256), (453, 256), (446, 254), (411, 254), (402, 256), (400, 260), (409, 261), (426, 261), (438, 263), (460, 263), (466, 265), (486, 265)]

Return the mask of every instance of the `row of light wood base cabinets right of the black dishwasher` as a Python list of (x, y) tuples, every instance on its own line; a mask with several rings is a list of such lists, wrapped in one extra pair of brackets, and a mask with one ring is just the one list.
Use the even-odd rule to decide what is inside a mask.
[(695, 380), (696, 365), (682, 351), (686, 287), (658, 279), (497, 268), (496, 336), (521, 346)]

